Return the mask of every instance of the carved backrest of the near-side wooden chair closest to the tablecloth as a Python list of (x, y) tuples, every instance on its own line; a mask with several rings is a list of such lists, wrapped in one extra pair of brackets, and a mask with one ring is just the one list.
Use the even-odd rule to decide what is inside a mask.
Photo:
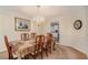
[(36, 37), (37, 48), (42, 48), (43, 42), (45, 42), (45, 35), (37, 35)]

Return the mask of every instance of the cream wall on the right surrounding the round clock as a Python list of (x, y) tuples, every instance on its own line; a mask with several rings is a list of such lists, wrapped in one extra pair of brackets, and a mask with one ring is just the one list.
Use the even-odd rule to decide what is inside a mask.
[[(88, 21), (86, 20), (86, 8), (70, 7), (70, 10), (68, 9), (66, 12), (63, 11), (63, 13), (66, 14), (60, 14), (56, 18), (56, 21), (58, 20), (59, 22), (60, 44), (72, 46), (88, 54)], [(74, 28), (74, 22), (78, 19), (82, 21), (82, 28), (80, 30)]]

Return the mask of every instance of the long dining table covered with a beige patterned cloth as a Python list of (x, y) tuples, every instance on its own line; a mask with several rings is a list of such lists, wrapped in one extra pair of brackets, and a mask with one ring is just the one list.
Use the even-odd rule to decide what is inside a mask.
[(22, 58), (25, 55), (32, 52), (36, 45), (36, 40), (30, 39), (28, 41), (17, 40), (11, 41), (10, 44), (13, 47), (13, 55), (17, 55), (18, 58)]

